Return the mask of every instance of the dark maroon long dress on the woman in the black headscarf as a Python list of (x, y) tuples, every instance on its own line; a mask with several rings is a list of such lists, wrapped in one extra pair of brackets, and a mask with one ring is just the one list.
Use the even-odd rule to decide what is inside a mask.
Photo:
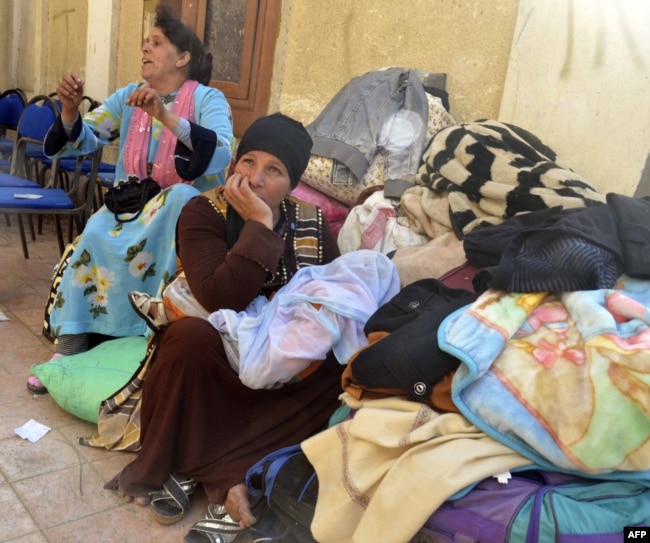
[[(295, 225), (289, 205), (284, 236), (248, 221), (229, 249), (224, 218), (206, 198), (191, 200), (179, 219), (178, 246), (198, 301), (209, 311), (242, 311), (260, 292), (277, 289), (296, 271)], [(326, 222), (322, 230), (327, 263), (339, 250)], [(269, 272), (282, 261), (288, 274), (276, 274), (280, 282), (269, 288)], [(340, 405), (342, 370), (330, 356), (298, 383), (253, 390), (230, 367), (208, 321), (178, 320), (162, 333), (144, 383), (141, 450), (114, 481), (123, 492), (143, 496), (177, 473), (201, 483), (211, 503), (224, 503), (256, 461), (326, 426)]]

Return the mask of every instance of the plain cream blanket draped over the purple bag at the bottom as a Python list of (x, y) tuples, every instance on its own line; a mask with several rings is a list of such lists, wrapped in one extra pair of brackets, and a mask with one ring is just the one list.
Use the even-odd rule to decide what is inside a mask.
[(457, 413), (341, 397), (354, 417), (302, 444), (319, 480), (320, 543), (404, 543), (456, 492), (531, 463)]

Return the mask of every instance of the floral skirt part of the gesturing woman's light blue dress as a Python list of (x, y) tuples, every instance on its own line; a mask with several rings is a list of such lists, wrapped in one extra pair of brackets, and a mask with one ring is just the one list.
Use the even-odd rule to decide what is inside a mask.
[(52, 303), (54, 336), (148, 334), (128, 299), (131, 290), (159, 296), (176, 272), (176, 221), (200, 192), (177, 184), (147, 202), (137, 219), (117, 222), (102, 206), (88, 221)]

